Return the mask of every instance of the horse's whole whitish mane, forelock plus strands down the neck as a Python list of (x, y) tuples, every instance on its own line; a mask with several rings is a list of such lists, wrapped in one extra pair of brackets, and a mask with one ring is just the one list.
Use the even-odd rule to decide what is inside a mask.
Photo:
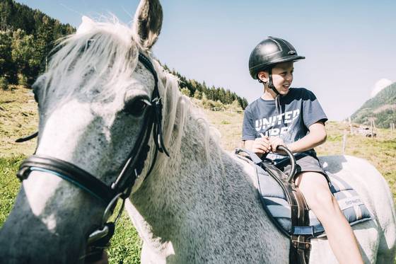
[[(52, 96), (62, 94), (62, 98), (78, 92), (94, 96), (95, 100), (111, 100), (112, 96), (132, 85), (131, 76), (138, 63), (138, 54), (144, 49), (132, 41), (132, 28), (120, 23), (115, 16), (105, 22), (89, 20), (88, 29), (83, 25), (83, 32), (78, 30), (76, 34), (59, 40), (52, 51), (47, 71), (33, 86), (42, 89), (42, 98), (46, 98), (45, 93), (49, 92), (54, 93)], [(204, 132), (205, 156), (209, 160), (209, 139), (219, 145), (219, 132), (209, 126), (202, 110), (182, 95), (177, 77), (166, 71), (151, 53), (145, 54), (151, 58), (158, 74), (158, 89), (165, 113), (165, 146), (180, 149), (186, 122), (193, 119), (197, 121), (197, 132)], [(96, 74), (92, 74), (93, 71)], [(154, 171), (162, 171), (167, 161), (165, 155), (159, 155)]]

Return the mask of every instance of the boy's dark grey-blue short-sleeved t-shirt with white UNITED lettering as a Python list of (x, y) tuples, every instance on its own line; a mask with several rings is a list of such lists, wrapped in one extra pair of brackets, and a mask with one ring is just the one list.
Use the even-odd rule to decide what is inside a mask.
[(305, 88), (291, 88), (286, 96), (276, 100), (261, 97), (250, 103), (243, 117), (242, 140), (255, 140), (260, 133), (269, 137), (281, 137), (285, 144), (296, 142), (308, 134), (308, 127), (315, 122), (326, 122), (313, 92)]

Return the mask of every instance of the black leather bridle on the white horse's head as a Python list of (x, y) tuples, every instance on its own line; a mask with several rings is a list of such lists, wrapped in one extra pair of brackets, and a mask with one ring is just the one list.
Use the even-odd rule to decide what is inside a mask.
[[(73, 183), (78, 188), (85, 190), (87, 193), (100, 200), (100, 202), (103, 202), (104, 205), (107, 205), (99, 228), (93, 231), (88, 237), (87, 244), (93, 248), (103, 248), (103, 246), (110, 241), (111, 236), (114, 233), (115, 222), (119, 219), (124, 207), (125, 199), (127, 199), (131, 194), (132, 187), (144, 168), (144, 162), (147, 159), (148, 151), (150, 149), (148, 146), (148, 140), (151, 136), (151, 132), (153, 132), (153, 141), (156, 149), (154, 151), (153, 161), (146, 173), (145, 179), (148, 178), (148, 175), (153, 170), (158, 151), (169, 156), (163, 143), (162, 103), (161, 96), (158, 91), (158, 76), (150, 59), (142, 53), (139, 53), (139, 62), (141, 62), (141, 64), (143, 64), (144, 67), (153, 74), (155, 85), (151, 95), (151, 102), (146, 102), (148, 104), (148, 108), (146, 108), (144, 113), (144, 119), (146, 122), (142, 125), (139, 136), (136, 139), (132, 151), (129, 152), (128, 159), (123, 164), (120, 174), (110, 186), (106, 185), (98, 178), (95, 178), (91, 173), (84, 171), (82, 168), (79, 168), (72, 163), (56, 159), (52, 156), (40, 154), (33, 154), (33, 156), (25, 159), (21, 163), (16, 174), (22, 181), (29, 177), (31, 171), (44, 171), (51, 173)], [(37, 134), (38, 133), (36, 132), (31, 136), (17, 139), (17, 142), (27, 141), (36, 137)], [(115, 222), (109, 223), (107, 220), (112, 215), (119, 198), (122, 199), (120, 212), (117, 214)]]

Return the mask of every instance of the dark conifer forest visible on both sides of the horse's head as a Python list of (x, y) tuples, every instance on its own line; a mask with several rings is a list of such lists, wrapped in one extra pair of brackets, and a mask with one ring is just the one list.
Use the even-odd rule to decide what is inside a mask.
[[(45, 71), (50, 51), (59, 38), (76, 31), (39, 10), (33, 10), (14, 0), (0, 1), (0, 88), (8, 84), (30, 85)], [(206, 86), (187, 79), (175, 69), (170, 70), (180, 80), (180, 89), (186, 96), (207, 99), (208, 108), (245, 109), (248, 101), (227, 88)]]

